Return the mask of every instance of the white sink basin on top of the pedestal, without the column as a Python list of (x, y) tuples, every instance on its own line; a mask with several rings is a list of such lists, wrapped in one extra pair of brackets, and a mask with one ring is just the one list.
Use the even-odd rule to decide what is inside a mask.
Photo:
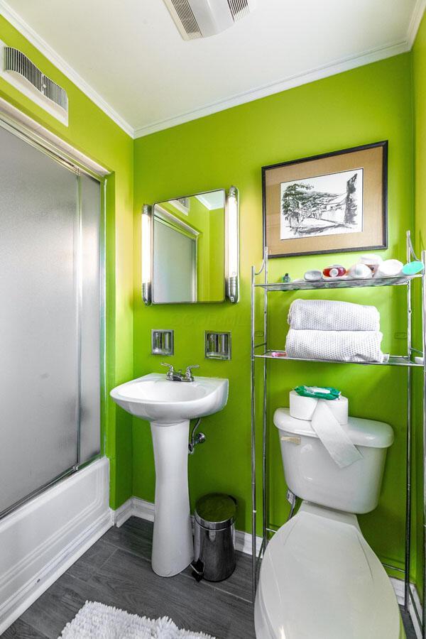
[(160, 373), (150, 373), (117, 386), (111, 391), (111, 398), (136, 417), (174, 424), (222, 410), (228, 398), (228, 380), (196, 377), (187, 383), (168, 381)]

